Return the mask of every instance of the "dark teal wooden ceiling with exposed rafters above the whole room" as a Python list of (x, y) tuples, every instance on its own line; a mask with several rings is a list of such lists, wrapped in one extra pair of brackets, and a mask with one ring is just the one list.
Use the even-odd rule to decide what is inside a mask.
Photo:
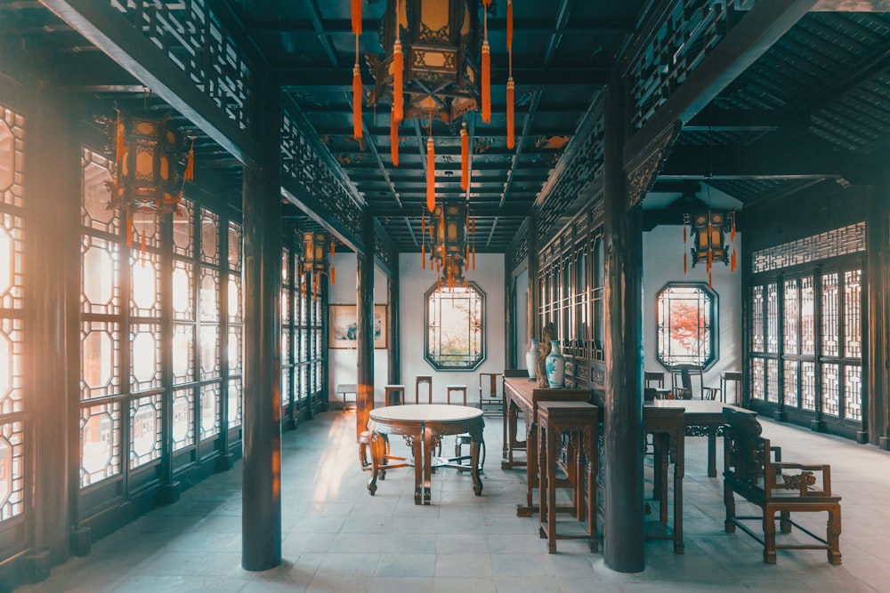
[[(239, 54), (233, 68), (252, 68), (279, 84), (283, 105), (312, 136), (321, 162), (336, 169), (355, 208), (370, 208), (397, 251), (419, 252), (429, 124), (425, 118), (401, 124), (398, 166), (390, 156), (389, 105), (366, 105), (365, 138), (353, 139), (350, 0), (144, 2), (140, 28), (162, 40), (166, 57), (123, 51), (132, 30), (103, 30), (117, 25), (103, 24), (105, 9), (93, 4), (103, 3), (0, 0), (0, 56), (51, 70), (53, 82), (81, 98), (93, 115), (115, 104), (173, 109), (198, 134), (198, 181), (213, 180), (239, 207), (250, 140), (237, 122), (199, 117), (196, 106), (203, 99), (191, 96), (195, 89), (145, 76), (158, 68), (139, 63), (194, 53), (185, 37), (194, 33), (190, 13), (200, 4), (231, 36), (231, 51)], [(578, 131), (589, 134), (604, 85), (610, 76), (636, 76), (635, 64), (643, 62), (657, 73), (672, 71), (678, 61), (699, 60), (689, 65), (692, 74), (669, 80), (658, 92), (637, 85), (630, 93), (630, 148), (646, 139), (647, 126), (675, 119), (683, 124), (643, 201), (649, 226), (676, 224), (677, 204), (690, 197), (712, 192), (743, 209), (793, 199), (816, 184), (871, 183), (890, 162), (886, 0), (513, 4), (515, 148), (506, 147), (506, 0), (493, 2), (488, 13), (490, 123), (475, 112), (465, 117), (473, 147), (467, 193), (459, 188), (459, 120), (434, 121), (432, 127), (437, 195), (469, 199), (480, 252), (506, 252), (530, 212), (550, 207), (546, 194), (585, 140)], [(480, 3), (470, 5), (481, 17)], [(359, 52), (367, 97), (374, 78), (364, 56), (384, 54), (378, 29), (387, 2), (365, 0), (362, 10)], [(684, 29), (672, 33), (666, 23)], [(729, 25), (728, 33), (710, 31)], [(721, 39), (716, 49), (708, 46), (708, 33)], [(659, 36), (666, 40), (652, 43)], [(310, 220), (295, 205), (285, 213), (288, 220)]]

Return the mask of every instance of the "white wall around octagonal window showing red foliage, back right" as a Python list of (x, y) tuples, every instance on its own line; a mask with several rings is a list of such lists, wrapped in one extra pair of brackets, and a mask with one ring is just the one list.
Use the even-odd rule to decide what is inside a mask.
[[(666, 381), (670, 381), (670, 376), (656, 357), (655, 294), (668, 282), (708, 282), (704, 265), (692, 268), (691, 257), (689, 272), (684, 276), (684, 249), (688, 250), (689, 245), (684, 248), (680, 226), (659, 226), (643, 233), (643, 368), (664, 371)], [(741, 233), (735, 236), (735, 249), (740, 262)], [(719, 358), (705, 373), (704, 384), (719, 387), (721, 371), (741, 370), (741, 269), (736, 267), (735, 272), (731, 272), (729, 266), (716, 263), (711, 276), (712, 289), (717, 293)], [(732, 397), (732, 388), (729, 391)]]

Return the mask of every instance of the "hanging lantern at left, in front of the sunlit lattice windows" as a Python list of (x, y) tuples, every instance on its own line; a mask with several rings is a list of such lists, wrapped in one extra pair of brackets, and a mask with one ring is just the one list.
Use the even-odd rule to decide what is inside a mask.
[[(127, 244), (133, 241), (136, 212), (160, 216), (177, 212), (185, 180), (194, 172), (194, 148), (187, 152), (180, 132), (169, 122), (169, 114), (157, 119), (124, 116), (115, 123), (117, 156), (115, 175), (109, 185), (109, 208), (121, 208), (126, 217)], [(181, 163), (188, 155), (188, 164)]]

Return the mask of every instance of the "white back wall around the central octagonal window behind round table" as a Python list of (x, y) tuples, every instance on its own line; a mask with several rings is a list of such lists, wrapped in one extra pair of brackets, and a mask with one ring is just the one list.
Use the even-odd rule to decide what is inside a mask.
[[(504, 256), (496, 253), (477, 253), (476, 269), (465, 273), (468, 280), (485, 292), (485, 360), (472, 372), (436, 371), (424, 358), (425, 292), (436, 283), (430, 268), (420, 268), (419, 253), (400, 256), (401, 292), (401, 382), (405, 385), (406, 401), (414, 401), (417, 375), (433, 375), (433, 401), (445, 402), (446, 385), (466, 385), (467, 401), (475, 402), (479, 394), (479, 373), (504, 372)], [(385, 381), (385, 380), (384, 380)], [(378, 385), (384, 382), (377, 381)], [(425, 393), (425, 392), (423, 392)], [(423, 395), (421, 396), (423, 397)], [(453, 400), (452, 400), (453, 403)]]

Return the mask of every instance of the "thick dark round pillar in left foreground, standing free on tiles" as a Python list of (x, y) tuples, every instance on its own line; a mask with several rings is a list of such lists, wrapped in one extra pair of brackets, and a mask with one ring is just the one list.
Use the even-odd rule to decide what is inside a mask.
[(244, 485), (241, 566), (281, 563), (280, 92), (263, 88), (255, 137), (263, 162), (244, 168)]

